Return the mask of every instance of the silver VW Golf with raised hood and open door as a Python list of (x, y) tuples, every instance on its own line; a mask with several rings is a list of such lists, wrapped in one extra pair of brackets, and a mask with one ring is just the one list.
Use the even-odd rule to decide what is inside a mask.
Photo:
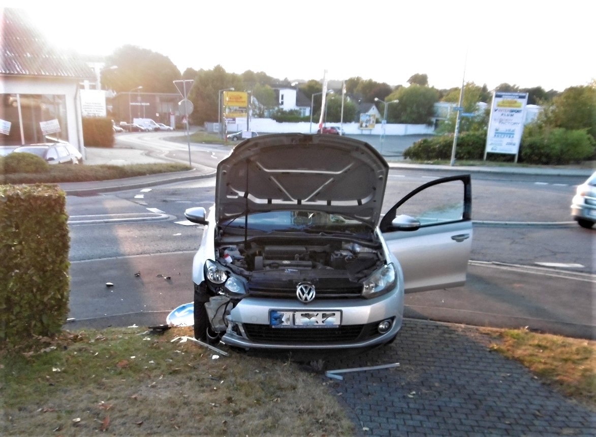
[[(194, 335), (240, 348), (392, 341), (404, 292), (460, 286), (470, 176), (433, 180), (383, 210), (389, 166), (344, 136), (263, 135), (217, 169), (193, 261)], [(381, 213), (383, 213), (381, 218)]]

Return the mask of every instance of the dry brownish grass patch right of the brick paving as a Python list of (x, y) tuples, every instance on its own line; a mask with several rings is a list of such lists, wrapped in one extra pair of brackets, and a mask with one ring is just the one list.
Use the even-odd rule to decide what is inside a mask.
[(596, 410), (596, 341), (530, 332), (489, 330), (493, 351), (517, 360), (543, 382)]

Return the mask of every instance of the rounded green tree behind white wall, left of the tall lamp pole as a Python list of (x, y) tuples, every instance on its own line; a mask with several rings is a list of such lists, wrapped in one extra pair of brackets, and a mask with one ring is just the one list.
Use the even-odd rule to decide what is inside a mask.
[(404, 124), (428, 124), (434, 114), (439, 93), (434, 88), (413, 84), (399, 88), (387, 98), (399, 103), (387, 107), (387, 121)]

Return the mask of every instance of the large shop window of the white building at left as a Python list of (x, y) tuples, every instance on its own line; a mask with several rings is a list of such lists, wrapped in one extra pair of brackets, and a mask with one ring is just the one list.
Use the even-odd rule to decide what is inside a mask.
[[(0, 144), (23, 145), (45, 142), (45, 136), (68, 141), (66, 96), (45, 94), (2, 94)], [(8, 123), (6, 123), (8, 122)]]

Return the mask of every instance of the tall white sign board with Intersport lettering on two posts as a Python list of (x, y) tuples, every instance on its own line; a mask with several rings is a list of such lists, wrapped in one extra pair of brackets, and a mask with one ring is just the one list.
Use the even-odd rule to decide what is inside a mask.
[(493, 93), (485, 160), (487, 153), (503, 153), (516, 155), (517, 162), (526, 104), (527, 93), (497, 91)]

